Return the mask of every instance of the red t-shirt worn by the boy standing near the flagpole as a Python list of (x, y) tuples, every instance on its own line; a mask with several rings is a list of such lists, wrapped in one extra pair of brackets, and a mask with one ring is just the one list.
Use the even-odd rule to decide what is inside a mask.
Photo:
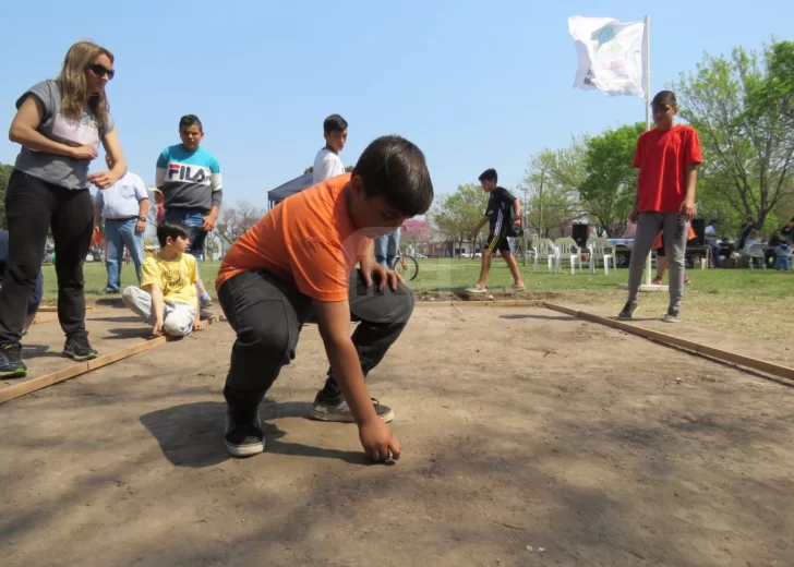
[(634, 167), (639, 168), (637, 210), (677, 213), (686, 198), (684, 166), (702, 161), (700, 140), (691, 126), (642, 133), (634, 154)]

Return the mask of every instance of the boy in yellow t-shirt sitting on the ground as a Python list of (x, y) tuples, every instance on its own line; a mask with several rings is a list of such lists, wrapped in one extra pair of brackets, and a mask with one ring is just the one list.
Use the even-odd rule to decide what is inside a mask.
[(152, 334), (156, 337), (185, 337), (192, 330), (207, 328), (200, 316), (196, 261), (184, 253), (190, 245), (189, 234), (183, 222), (160, 222), (160, 251), (144, 261), (141, 287), (130, 286), (121, 294), (124, 305), (153, 325)]

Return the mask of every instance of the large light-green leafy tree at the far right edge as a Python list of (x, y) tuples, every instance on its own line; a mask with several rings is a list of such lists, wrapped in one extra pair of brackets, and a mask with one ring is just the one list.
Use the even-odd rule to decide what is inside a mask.
[(700, 134), (709, 193), (759, 226), (794, 194), (793, 69), (791, 41), (760, 55), (737, 47), (730, 58), (707, 53), (673, 85), (681, 116)]

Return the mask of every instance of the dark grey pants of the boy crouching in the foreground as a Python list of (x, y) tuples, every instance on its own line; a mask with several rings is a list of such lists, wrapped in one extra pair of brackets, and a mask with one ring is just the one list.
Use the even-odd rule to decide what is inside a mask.
[[(350, 274), (350, 319), (359, 322), (352, 335), (364, 376), (397, 340), (413, 312), (413, 293), (402, 284), (376, 291), (368, 288), (359, 270)], [(312, 316), (312, 300), (293, 284), (267, 272), (243, 272), (226, 281), (218, 301), (237, 333), (224, 396), (232, 409), (258, 406), (294, 359), (301, 327)], [(326, 393), (338, 393), (328, 371)]]

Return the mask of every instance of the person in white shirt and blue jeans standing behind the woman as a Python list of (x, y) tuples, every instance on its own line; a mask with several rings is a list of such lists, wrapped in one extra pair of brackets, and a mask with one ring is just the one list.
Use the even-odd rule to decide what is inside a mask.
[[(110, 156), (106, 156), (108, 167), (112, 168)], [(135, 264), (135, 275), (141, 282), (143, 264), (143, 233), (146, 230), (148, 215), (148, 192), (146, 184), (135, 173), (128, 171), (110, 188), (97, 191), (94, 222), (100, 227), (105, 220), (105, 240), (108, 246), (108, 258), (105, 267), (108, 270), (106, 293), (119, 293), (121, 289), (121, 263), (124, 248)]]

